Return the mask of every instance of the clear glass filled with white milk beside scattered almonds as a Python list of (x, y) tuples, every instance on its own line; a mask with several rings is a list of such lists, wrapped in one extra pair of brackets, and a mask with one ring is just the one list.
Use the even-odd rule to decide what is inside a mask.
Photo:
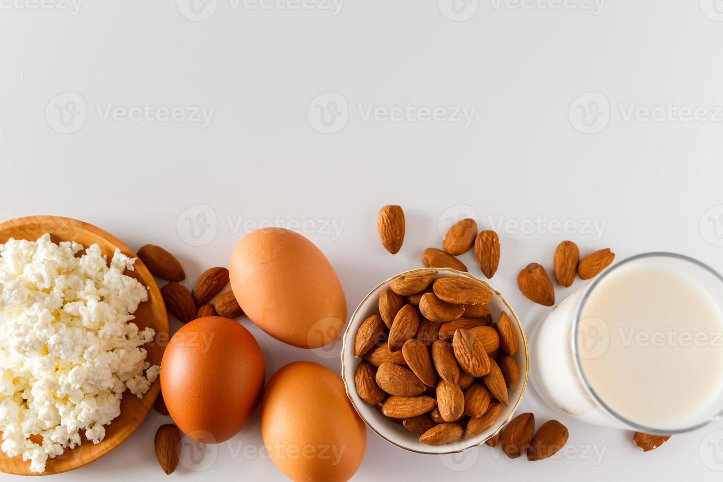
[(530, 337), (552, 408), (649, 434), (723, 415), (723, 277), (670, 253), (625, 259), (555, 306)]

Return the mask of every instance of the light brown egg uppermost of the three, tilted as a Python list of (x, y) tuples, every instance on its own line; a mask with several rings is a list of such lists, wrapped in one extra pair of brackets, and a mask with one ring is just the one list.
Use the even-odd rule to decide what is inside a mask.
[(346, 298), (333, 267), (294, 231), (248, 233), (231, 253), (229, 272), (244, 313), (284, 343), (322, 347), (338, 337), (346, 322)]

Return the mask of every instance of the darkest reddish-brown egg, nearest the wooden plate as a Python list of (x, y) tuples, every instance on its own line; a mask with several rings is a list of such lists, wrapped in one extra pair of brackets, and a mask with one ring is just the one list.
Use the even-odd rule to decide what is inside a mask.
[(219, 443), (241, 430), (264, 387), (256, 339), (232, 319), (203, 317), (171, 338), (161, 362), (168, 413), (192, 439)]

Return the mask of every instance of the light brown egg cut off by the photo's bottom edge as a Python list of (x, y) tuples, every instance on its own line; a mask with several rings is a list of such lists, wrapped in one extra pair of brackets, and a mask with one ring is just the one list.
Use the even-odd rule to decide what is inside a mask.
[(367, 428), (330, 369), (310, 361), (281, 367), (261, 402), (261, 435), (292, 481), (348, 481), (367, 447)]

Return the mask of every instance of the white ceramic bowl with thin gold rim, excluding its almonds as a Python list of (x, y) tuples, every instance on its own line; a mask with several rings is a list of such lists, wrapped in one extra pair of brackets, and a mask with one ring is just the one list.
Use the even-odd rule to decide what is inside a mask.
[(500, 312), (504, 310), (507, 311), (510, 317), (512, 317), (512, 319), (517, 323), (517, 327), (521, 335), (520, 339), (522, 341), (519, 350), (515, 353), (515, 360), (520, 367), (520, 383), (518, 384), (517, 390), (510, 392), (510, 404), (507, 407), (502, 408), (502, 415), (500, 415), (500, 418), (498, 418), (495, 424), (489, 429), (482, 432), (482, 434), (470, 439), (460, 439), (451, 444), (432, 446), (422, 444), (422, 442), (419, 442), (419, 438), (417, 436), (398, 423), (395, 423), (389, 418), (383, 416), (379, 407), (369, 405), (364, 402), (364, 400), (361, 400), (359, 394), (356, 393), (356, 385), (354, 384), (354, 371), (356, 370), (356, 365), (359, 361), (361, 361), (361, 358), (354, 356), (354, 335), (356, 334), (356, 330), (359, 328), (359, 325), (364, 321), (364, 319), (372, 316), (372, 314), (379, 314), (379, 295), (389, 286), (392, 280), (395, 280), (395, 278), (402, 275), (407, 275), (408, 273), (429, 269), (432, 268), (420, 268), (419, 270), (399, 273), (398, 275), (390, 277), (388, 280), (384, 281), (382, 284), (377, 286), (377, 288), (374, 288), (371, 293), (364, 297), (361, 304), (359, 304), (354, 311), (354, 314), (351, 315), (351, 319), (349, 320), (346, 331), (344, 332), (344, 343), (341, 350), (341, 377), (344, 380), (344, 385), (346, 386), (346, 395), (348, 395), (351, 403), (354, 404), (354, 408), (356, 408), (356, 412), (359, 413), (361, 419), (367, 423), (369, 429), (372, 429), (377, 435), (382, 437), (382, 439), (385, 439), (387, 442), (394, 444), (397, 447), (419, 454), (436, 455), (463, 452), (471, 447), (477, 447), (478, 445), (483, 444), (485, 440), (495, 436), (502, 427), (505, 426), (505, 423), (513, 418), (513, 414), (522, 399), (522, 394), (525, 392), (525, 387), (527, 385), (529, 353), (527, 351), (527, 339), (525, 337), (525, 332), (522, 329), (522, 325), (520, 324), (520, 320), (515, 314), (515, 311), (507, 303), (507, 301), (505, 301), (505, 298), (502, 298), (502, 295), (499, 292), (495, 291), (495, 289), (489, 286), (489, 284), (484, 280), (479, 280), (467, 272), (461, 272), (451, 268), (433, 268), (438, 271), (440, 275), (461, 275), (484, 283), (484, 285), (487, 285), (489, 289), (495, 293), (492, 301), (490, 301), (488, 305), (489, 310), (492, 311), (492, 319), (497, 322), (497, 319), (500, 317)]

